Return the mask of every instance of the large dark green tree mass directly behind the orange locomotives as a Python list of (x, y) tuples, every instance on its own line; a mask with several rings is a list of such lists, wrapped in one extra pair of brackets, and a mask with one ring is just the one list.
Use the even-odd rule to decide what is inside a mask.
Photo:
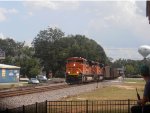
[(32, 44), (35, 56), (40, 59), (47, 74), (49, 71), (53, 75), (63, 73), (68, 57), (83, 57), (101, 63), (105, 63), (107, 59), (103, 48), (94, 40), (82, 35), (64, 37), (64, 33), (58, 28), (40, 31)]

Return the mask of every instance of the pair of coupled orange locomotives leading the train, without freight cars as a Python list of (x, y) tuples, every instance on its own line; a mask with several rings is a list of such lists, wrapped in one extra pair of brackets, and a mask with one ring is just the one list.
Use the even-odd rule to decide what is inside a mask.
[(103, 67), (98, 62), (87, 61), (81, 57), (71, 57), (66, 64), (66, 82), (82, 83), (87, 81), (101, 80)]

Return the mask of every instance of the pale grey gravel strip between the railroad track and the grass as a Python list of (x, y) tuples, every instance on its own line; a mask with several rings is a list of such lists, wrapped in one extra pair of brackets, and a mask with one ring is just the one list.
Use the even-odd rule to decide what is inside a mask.
[[(122, 82), (119, 80), (110, 80), (98, 83), (98, 88), (107, 86), (107, 85), (115, 85), (121, 84)], [(83, 92), (90, 92), (96, 88), (97, 83), (86, 84), (82, 86), (76, 86), (71, 88), (64, 88), (59, 90), (41, 92), (41, 93), (34, 93), (28, 95), (21, 95), (21, 96), (14, 96), (14, 97), (7, 97), (0, 100), (0, 107), (2, 108), (15, 108), (20, 107), (22, 105), (29, 105), (34, 104), (35, 102), (44, 102), (46, 100), (60, 100), (61, 98), (65, 98), (68, 96), (77, 95)]]

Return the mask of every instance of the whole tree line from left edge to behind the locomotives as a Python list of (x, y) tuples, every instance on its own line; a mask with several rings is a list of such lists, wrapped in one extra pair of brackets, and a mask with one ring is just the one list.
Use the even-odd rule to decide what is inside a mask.
[(6, 58), (1, 63), (21, 67), (21, 75), (35, 77), (41, 71), (48, 75), (64, 76), (68, 57), (83, 57), (101, 63), (109, 60), (103, 48), (84, 35), (68, 35), (59, 28), (48, 27), (39, 31), (32, 41), (32, 47), (14, 39), (0, 39), (0, 48)]

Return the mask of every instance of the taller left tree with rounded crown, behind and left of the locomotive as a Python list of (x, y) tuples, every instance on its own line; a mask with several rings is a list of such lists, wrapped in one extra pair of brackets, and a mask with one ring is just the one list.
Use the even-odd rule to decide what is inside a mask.
[(47, 28), (40, 31), (34, 38), (32, 44), (35, 49), (35, 56), (40, 58), (41, 65), (44, 66), (44, 70), (48, 74), (52, 71), (55, 75), (58, 70), (58, 54), (59, 50), (55, 41), (64, 36), (64, 33), (58, 28)]

